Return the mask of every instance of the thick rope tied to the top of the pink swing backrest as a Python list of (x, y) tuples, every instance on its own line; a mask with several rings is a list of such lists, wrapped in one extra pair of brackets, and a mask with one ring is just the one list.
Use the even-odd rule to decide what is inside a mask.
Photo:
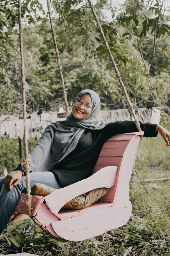
[[(97, 28), (98, 28), (98, 30), (99, 30), (99, 32), (100, 32), (102, 38), (103, 38), (103, 42), (104, 42), (104, 44), (105, 44), (105, 46), (106, 46), (107, 52), (108, 52), (108, 54), (109, 54), (109, 58), (110, 58), (111, 63), (112, 63), (112, 66), (113, 66), (113, 68), (114, 68), (114, 70), (115, 70), (115, 72), (116, 72), (116, 75), (117, 75), (118, 79), (119, 79), (121, 88), (122, 88), (122, 90), (123, 90), (123, 93), (124, 93), (124, 95), (125, 95), (125, 98), (126, 98), (126, 100), (127, 100), (128, 106), (129, 106), (129, 110), (130, 110), (131, 114), (133, 115), (133, 117), (134, 117), (134, 119), (135, 119), (135, 124), (136, 124), (136, 126), (137, 126), (137, 129), (138, 129), (139, 131), (142, 131), (142, 130), (141, 130), (141, 127), (140, 127), (140, 123), (138, 122), (138, 120), (137, 120), (137, 118), (136, 118), (136, 115), (135, 115), (135, 111), (134, 111), (134, 108), (133, 108), (133, 103), (130, 102), (129, 96), (128, 96), (127, 91), (126, 91), (126, 88), (125, 88), (125, 86), (124, 86), (124, 84), (123, 84), (123, 82), (122, 82), (122, 79), (121, 79), (119, 70), (117, 69), (115, 60), (114, 60), (113, 55), (112, 55), (112, 53), (111, 53), (111, 51), (110, 51), (110, 48), (109, 48), (109, 45), (108, 45), (107, 40), (106, 40), (106, 38), (105, 38), (105, 35), (104, 35), (104, 33), (103, 33), (102, 27), (101, 27), (100, 22), (99, 22), (99, 20), (98, 20), (98, 18), (97, 18), (96, 12), (95, 12), (95, 10), (94, 10), (94, 8), (93, 8), (93, 6), (92, 6), (92, 1), (91, 1), (91, 0), (87, 0), (87, 1), (89, 2), (89, 5), (90, 5), (91, 10), (92, 10), (92, 13), (93, 13), (93, 16), (94, 16), (95, 21), (96, 21), (96, 23), (97, 23)], [(141, 135), (141, 138), (142, 138), (142, 137), (143, 137), (143, 135)]]

